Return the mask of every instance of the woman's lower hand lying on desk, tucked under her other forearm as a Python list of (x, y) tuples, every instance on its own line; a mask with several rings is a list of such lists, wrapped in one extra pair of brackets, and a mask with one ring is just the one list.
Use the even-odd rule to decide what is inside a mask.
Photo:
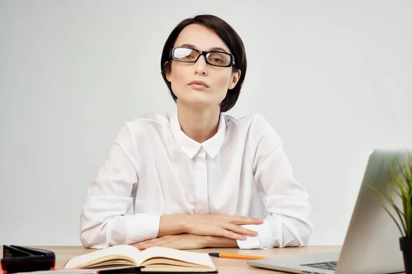
[(144, 240), (133, 244), (137, 249), (149, 247), (170, 247), (173, 249), (203, 249), (207, 246), (207, 238), (191, 234), (166, 235), (160, 238)]

